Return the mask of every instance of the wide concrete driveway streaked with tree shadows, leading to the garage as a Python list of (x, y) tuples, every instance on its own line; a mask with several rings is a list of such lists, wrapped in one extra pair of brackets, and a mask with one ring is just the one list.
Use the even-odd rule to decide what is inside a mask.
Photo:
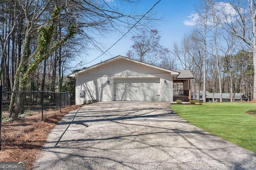
[(168, 102), (99, 102), (52, 130), (37, 170), (256, 169), (256, 154), (191, 125)]

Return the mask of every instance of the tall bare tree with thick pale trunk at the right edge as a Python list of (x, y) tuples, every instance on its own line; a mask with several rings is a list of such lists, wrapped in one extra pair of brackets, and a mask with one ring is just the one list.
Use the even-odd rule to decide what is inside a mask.
[[(228, 9), (228, 12), (227, 12)], [(255, 0), (230, 0), (222, 8), (222, 26), (226, 31), (241, 39), (253, 53), (254, 87), (256, 99), (256, 2)]]

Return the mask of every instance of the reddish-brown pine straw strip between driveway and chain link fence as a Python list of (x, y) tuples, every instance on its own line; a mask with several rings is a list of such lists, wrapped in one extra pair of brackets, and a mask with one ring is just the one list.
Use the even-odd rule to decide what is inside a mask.
[[(42, 147), (46, 143), (50, 131), (64, 115), (80, 107), (82, 106), (72, 105), (62, 109), (61, 112), (59, 110), (47, 111), (47, 118), (44, 121), (30, 124), (30, 127), (25, 130), (26, 133), (23, 133), (23, 135), (18, 136), (16, 139), (2, 141), (0, 162), (26, 161), (26, 169), (32, 169), (33, 162), (40, 156), (40, 152), (42, 152)], [(20, 129), (24, 132), (23, 128)]]

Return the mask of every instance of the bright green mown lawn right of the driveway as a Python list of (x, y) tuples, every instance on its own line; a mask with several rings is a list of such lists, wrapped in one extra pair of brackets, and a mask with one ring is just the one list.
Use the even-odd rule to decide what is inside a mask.
[(256, 116), (246, 113), (256, 110), (256, 104), (228, 102), (171, 107), (197, 127), (256, 153)]

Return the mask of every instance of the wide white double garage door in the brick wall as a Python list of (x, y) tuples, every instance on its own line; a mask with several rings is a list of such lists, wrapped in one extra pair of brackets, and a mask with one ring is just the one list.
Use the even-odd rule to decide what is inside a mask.
[(160, 78), (114, 79), (114, 100), (160, 101)]

